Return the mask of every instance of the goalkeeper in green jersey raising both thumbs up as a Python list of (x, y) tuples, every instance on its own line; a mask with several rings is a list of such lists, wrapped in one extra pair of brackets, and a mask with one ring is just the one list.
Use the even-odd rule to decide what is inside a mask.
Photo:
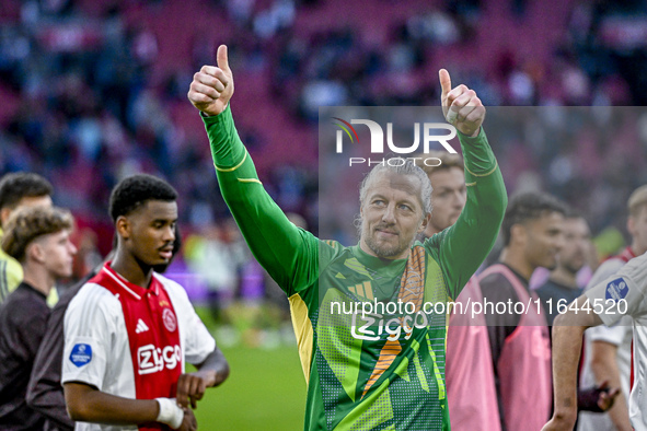
[[(359, 244), (344, 247), (296, 228), (258, 180), (235, 130), (227, 47), (218, 67), (194, 75), (189, 101), (209, 136), (220, 189), (256, 259), (287, 293), (308, 382), (305, 430), (449, 430), (444, 356), (447, 315), (424, 325), (398, 316), (334, 314), (335, 302), (447, 303), (489, 253), (506, 209), (506, 189), (481, 127), (485, 108), (440, 71), (446, 118), (459, 130), (467, 201), (451, 228), (415, 242), (431, 215), (423, 170), (377, 165), (360, 190)], [(418, 315), (418, 314), (416, 314)], [(358, 319), (362, 319), (358, 322)], [(390, 334), (391, 333), (391, 334)]]

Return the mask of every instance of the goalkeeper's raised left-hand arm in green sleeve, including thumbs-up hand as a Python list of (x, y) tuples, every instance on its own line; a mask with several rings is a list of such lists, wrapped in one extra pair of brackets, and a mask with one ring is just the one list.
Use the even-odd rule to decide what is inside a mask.
[(263, 188), (233, 124), (232, 95), (233, 74), (222, 45), (218, 67), (205, 66), (194, 75), (188, 98), (203, 114), (224, 201), (254, 257), (289, 295), (316, 277), (319, 242), (294, 226)]

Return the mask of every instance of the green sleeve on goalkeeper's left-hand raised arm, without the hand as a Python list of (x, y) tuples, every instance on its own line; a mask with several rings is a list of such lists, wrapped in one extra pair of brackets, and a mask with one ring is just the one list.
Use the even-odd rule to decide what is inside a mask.
[(317, 276), (317, 238), (292, 224), (263, 187), (231, 107), (203, 119), (222, 197), (252, 254), (288, 295), (311, 286)]

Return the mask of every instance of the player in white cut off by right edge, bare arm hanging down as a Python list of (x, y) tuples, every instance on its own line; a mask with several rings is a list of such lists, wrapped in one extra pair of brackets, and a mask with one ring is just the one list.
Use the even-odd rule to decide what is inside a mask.
[(570, 430), (577, 418), (576, 375), (585, 329), (619, 323), (629, 316), (634, 328), (634, 385), (629, 419), (636, 431), (647, 431), (647, 253), (616, 275), (588, 290), (553, 327), (553, 386), (555, 411), (544, 430)]

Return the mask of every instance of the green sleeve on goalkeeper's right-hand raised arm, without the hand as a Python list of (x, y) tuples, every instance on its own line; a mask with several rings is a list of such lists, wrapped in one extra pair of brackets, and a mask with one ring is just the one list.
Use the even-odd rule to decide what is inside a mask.
[(483, 128), (475, 138), (458, 135), (464, 156), (467, 200), (457, 222), (425, 243), (428, 249), (438, 251), (450, 298), (458, 298), (487, 257), (508, 205), (504, 178)]

